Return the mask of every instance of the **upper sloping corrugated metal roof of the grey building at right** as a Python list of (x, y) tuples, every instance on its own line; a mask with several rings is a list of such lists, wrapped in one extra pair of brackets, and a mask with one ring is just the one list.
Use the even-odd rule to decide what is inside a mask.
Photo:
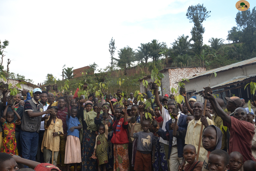
[(200, 74), (198, 74), (196, 76), (190, 77), (188, 79), (190, 80), (190, 79), (193, 79), (193, 78), (196, 78), (196, 77), (199, 77), (199, 76), (203, 76), (203, 75), (207, 75), (207, 74), (212, 74), (212, 72), (216, 72), (217, 73), (217, 72), (220, 72), (220, 71), (225, 71), (225, 70), (228, 70), (228, 69), (231, 69), (231, 68), (236, 68), (236, 67), (240, 67), (240, 66), (244, 66), (244, 65), (248, 65), (248, 64), (253, 64), (253, 63), (256, 63), (256, 58), (251, 58), (251, 59), (248, 59), (248, 60), (237, 62), (235, 64), (231, 64), (231, 65), (227, 65), (227, 66), (222, 66), (220, 68), (211, 69), (211, 70), (202, 72), (202, 73), (200, 73)]

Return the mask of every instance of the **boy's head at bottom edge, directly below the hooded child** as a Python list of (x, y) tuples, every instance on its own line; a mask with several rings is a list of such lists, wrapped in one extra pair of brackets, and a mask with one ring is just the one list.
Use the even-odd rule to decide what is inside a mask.
[(208, 159), (209, 171), (226, 171), (229, 167), (229, 156), (224, 150), (214, 150)]

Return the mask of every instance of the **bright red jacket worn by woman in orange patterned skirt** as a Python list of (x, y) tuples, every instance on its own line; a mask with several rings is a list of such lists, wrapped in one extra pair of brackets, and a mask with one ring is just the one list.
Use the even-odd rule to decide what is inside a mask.
[[(113, 125), (115, 125), (116, 121)], [(127, 137), (127, 128), (124, 128), (124, 126), (128, 128), (128, 122), (124, 122), (124, 118), (121, 118), (116, 126), (116, 133), (114, 132), (113, 137), (111, 139), (112, 144), (127, 144), (129, 143), (128, 137)]]

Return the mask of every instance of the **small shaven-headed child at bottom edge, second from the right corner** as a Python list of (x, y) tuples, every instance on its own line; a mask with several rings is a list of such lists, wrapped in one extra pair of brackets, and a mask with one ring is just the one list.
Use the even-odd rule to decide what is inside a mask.
[(243, 166), (243, 156), (240, 152), (229, 154), (229, 171), (238, 171)]

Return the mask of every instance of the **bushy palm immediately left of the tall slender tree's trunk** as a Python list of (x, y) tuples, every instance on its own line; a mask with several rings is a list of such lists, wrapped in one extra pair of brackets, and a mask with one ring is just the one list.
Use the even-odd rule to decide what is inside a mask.
[(185, 54), (191, 54), (193, 53), (191, 47), (191, 39), (188, 40), (188, 35), (182, 35), (175, 40), (175, 42), (171, 43), (172, 45), (172, 51), (176, 55), (185, 55)]

